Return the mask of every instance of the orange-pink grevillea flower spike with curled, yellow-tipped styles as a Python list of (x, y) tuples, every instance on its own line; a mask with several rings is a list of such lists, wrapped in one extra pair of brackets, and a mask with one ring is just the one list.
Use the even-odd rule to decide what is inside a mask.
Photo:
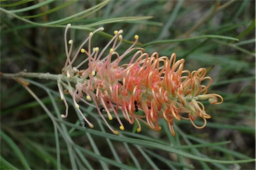
[[(63, 76), (67, 77), (67, 81), (61, 79), (58, 81), (61, 99), (66, 105), (66, 113), (61, 115), (63, 118), (68, 114), (67, 101), (63, 95), (65, 89), (70, 93), (75, 107), (91, 128), (93, 124), (79, 109), (78, 101), (95, 107), (115, 134), (118, 134), (118, 131), (109, 125), (103, 114), (107, 114), (109, 120), (115, 115), (120, 125), (119, 129), (124, 130), (125, 127), (119, 118), (121, 112), (129, 123), (137, 122), (137, 132), (141, 131), (141, 123), (149, 125), (155, 131), (160, 131), (159, 120), (165, 119), (174, 136), (174, 119), (189, 120), (194, 127), (201, 129), (205, 127), (207, 119), (211, 118), (205, 112), (201, 101), (208, 100), (211, 104), (223, 102), (221, 95), (207, 93), (212, 80), (211, 77), (206, 76), (205, 68), (192, 72), (184, 70), (185, 60), (176, 61), (175, 53), (171, 57), (160, 57), (157, 52), (149, 55), (144, 49), (134, 47), (139, 39), (138, 35), (135, 35), (131, 47), (123, 54), (119, 54), (117, 49), (123, 40), (121, 35), (123, 30), (114, 31), (109, 43), (103, 49), (99, 49), (99, 47), (91, 47), (93, 35), (97, 31), (103, 31), (103, 27), (96, 29), (89, 33), (89, 37), (71, 57), (73, 40), (67, 39), (69, 27), (70, 24), (65, 29), (67, 61), (63, 67)], [(85, 44), (87, 44), (86, 48)], [(131, 52), (134, 53), (131, 61), (121, 65), (122, 59)], [(85, 55), (85, 60), (74, 67), (74, 61), (79, 53)], [(80, 67), (87, 69), (79, 69)], [(209, 81), (208, 85), (202, 85), (202, 81), (205, 80)], [(71, 83), (75, 85), (72, 86)], [(141, 111), (143, 111), (142, 115)], [(197, 117), (201, 117), (204, 121), (201, 127), (194, 123)]]

